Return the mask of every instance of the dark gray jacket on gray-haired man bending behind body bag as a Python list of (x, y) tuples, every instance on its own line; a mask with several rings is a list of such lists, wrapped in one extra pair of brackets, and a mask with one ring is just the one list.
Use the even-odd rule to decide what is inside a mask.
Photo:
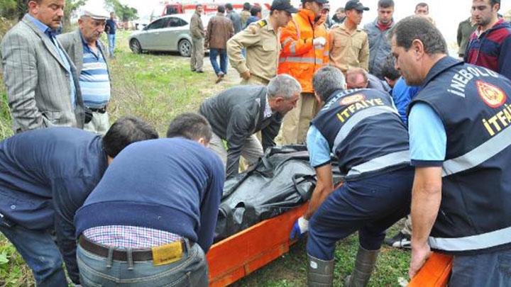
[(265, 86), (235, 86), (202, 103), (199, 112), (207, 118), (213, 133), (227, 141), (228, 177), (238, 174), (241, 150), (248, 137), (260, 131), (264, 150), (275, 145), (282, 116), (273, 113), (264, 119), (266, 105)]

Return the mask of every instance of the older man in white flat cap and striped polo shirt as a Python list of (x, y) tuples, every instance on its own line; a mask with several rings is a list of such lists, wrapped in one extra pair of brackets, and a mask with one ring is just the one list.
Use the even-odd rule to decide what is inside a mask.
[(106, 11), (85, 10), (78, 19), (79, 28), (57, 39), (77, 68), (84, 105), (92, 111), (92, 120), (84, 130), (104, 135), (109, 129), (106, 106), (111, 96), (111, 79), (106, 49), (99, 41), (105, 28)]

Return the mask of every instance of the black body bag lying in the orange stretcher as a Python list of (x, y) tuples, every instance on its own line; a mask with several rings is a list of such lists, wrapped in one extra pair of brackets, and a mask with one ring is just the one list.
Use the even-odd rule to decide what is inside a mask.
[[(332, 170), (336, 171), (334, 182), (341, 181), (339, 168)], [(255, 167), (226, 180), (215, 241), (302, 205), (311, 197), (315, 184), (315, 171), (304, 145), (266, 150)]]

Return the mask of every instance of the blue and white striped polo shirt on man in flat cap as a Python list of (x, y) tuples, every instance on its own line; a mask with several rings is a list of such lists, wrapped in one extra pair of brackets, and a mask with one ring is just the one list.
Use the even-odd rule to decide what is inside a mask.
[(85, 106), (103, 108), (110, 101), (110, 79), (103, 52), (83, 42), (83, 67), (79, 75)]

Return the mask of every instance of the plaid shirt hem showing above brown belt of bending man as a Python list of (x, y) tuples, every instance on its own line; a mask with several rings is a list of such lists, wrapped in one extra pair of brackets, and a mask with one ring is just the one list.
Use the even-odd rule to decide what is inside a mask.
[(180, 235), (152, 228), (107, 225), (92, 227), (83, 232), (92, 242), (119, 249), (142, 249), (181, 240)]

